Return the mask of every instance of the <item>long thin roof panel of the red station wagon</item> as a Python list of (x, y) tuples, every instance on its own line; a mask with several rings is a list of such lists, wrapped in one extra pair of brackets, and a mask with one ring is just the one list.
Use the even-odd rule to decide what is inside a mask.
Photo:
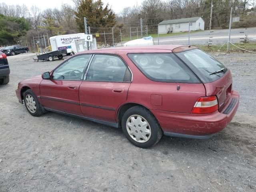
[(177, 47), (181, 47), (184, 45), (151, 45), (151, 46), (127, 46), (127, 47), (110, 47), (110, 48), (101, 48), (97, 50), (89, 50), (89, 51), (83, 51), (80, 52), (79, 54), (83, 53), (88, 53), (88, 52), (106, 52), (106, 53), (111, 53), (111, 52), (116, 52), (116, 51), (121, 51), (121, 52), (140, 52), (141, 50), (147, 51), (150, 50), (150, 52), (157, 50), (158, 52), (160, 50), (165, 50), (166, 51), (172, 51), (173, 49)]

